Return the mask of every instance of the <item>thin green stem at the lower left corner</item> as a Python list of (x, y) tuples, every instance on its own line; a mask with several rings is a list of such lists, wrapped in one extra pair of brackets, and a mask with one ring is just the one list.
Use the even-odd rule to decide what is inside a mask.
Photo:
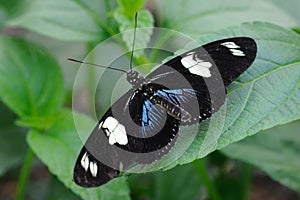
[(24, 165), (22, 166), (21, 173), (19, 176), (16, 200), (22, 200), (25, 197), (26, 186), (27, 186), (33, 159), (34, 159), (34, 153), (29, 148), (27, 150)]

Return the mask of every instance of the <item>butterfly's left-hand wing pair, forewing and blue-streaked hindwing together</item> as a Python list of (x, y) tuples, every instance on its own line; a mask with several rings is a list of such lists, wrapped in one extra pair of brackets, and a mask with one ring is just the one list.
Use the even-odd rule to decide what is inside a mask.
[(180, 121), (134, 90), (103, 115), (75, 163), (73, 180), (100, 186), (134, 164), (160, 159), (176, 141)]

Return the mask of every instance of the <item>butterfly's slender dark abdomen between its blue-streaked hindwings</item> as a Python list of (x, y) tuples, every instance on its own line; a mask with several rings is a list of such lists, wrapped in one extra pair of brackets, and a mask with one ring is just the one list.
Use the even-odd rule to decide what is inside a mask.
[(150, 100), (162, 107), (162, 109), (164, 109), (170, 116), (174, 117), (177, 120), (190, 122), (192, 119), (192, 116), (189, 112), (169, 101), (168, 99), (165, 99), (164, 97), (154, 95)]

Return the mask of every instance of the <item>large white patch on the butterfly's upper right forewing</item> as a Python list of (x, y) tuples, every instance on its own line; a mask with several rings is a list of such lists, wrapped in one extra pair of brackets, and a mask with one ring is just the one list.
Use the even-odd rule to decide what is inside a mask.
[(192, 74), (202, 77), (211, 77), (209, 68), (212, 66), (210, 62), (200, 60), (195, 52), (190, 52), (181, 59), (181, 64), (187, 68)]

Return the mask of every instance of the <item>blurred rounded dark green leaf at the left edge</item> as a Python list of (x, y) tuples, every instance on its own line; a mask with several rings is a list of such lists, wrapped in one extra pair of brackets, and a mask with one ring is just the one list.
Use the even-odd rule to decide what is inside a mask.
[(64, 98), (56, 61), (37, 46), (8, 37), (0, 37), (0, 60), (0, 98), (20, 124), (48, 127)]

